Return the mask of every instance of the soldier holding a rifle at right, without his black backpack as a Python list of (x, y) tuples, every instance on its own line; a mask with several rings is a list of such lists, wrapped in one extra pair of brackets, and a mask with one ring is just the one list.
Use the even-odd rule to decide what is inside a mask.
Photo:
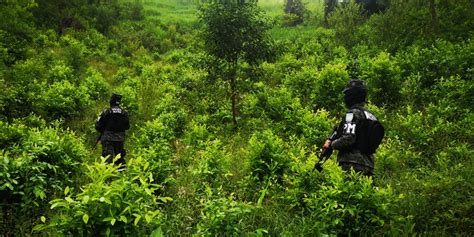
[(333, 148), (339, 151), (337, 162), (345, 171), (351, 168), (367, 176), (374, 174), (373, 154), (364, 154), (357, 148), (357, 129), (366, 118), (375, 119), (375, 116), (364, 109), (367, 89), (363, 81), (351, 80), (344, 89), (344, 102), (349, 111), (344, 115), (339, 126), (334, 130), (333, 139), (328, 139), (323, 148)]

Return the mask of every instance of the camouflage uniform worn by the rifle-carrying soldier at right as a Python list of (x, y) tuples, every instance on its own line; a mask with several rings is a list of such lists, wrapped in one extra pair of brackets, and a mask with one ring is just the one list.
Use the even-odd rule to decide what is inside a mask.
[(353, 168), (357, 172), (372, 176), (374, 174), (373, 154), (364, 154), (357, 148), (357, 128), (361, 127), (361, 122), (366, 116), (373, 115), (366, 111), (362, 104), (353, 105), (336, 129), (338, 135), (332, 141), (331, 147), (339, 151), (337, 162), (343, 170)]

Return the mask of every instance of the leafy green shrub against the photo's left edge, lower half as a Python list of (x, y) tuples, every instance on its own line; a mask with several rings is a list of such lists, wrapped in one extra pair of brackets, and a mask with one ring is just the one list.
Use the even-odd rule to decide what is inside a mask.
[(11, 144), (0, 150), (0, 193), (7, 204), (4, 211), (10, 213), (5, 221), (17, 231), (15, 222), (24, 223), (16, 218), (38, 217), (47, 210), (49, 200), (65, 186), (74, 185), (79, 164), (87, 155), (74, 133), (61, 130), (58, 124), (46, 127), (42, 123), (41, 129), (0, 123), (0, 130), (6, 132), (2, 140)]

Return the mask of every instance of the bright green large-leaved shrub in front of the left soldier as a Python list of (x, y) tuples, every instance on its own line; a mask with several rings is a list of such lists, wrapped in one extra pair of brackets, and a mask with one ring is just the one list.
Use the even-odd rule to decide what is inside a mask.
[(127, 170), (105, 158), (87, 165), (89, 182), (74, 192), (66, 187), (64, 198), (51, 201), (55, 211), (51, 222), (35, 230), (65, 235), (145, 235), (161, 222), (160, 203), (169, 198), (154, 194), (150, 163), (143, 158), (129, 159)]

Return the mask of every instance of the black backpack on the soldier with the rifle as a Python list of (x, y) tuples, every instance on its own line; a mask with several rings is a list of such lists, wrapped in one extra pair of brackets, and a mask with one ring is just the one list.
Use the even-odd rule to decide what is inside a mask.
[(370, 112), (362, 110), (364, 119), (357, 132), (357, 148), (362, 153), (373, 154), (379, 147), (385, 134), (385, 129), (377, 118)]

